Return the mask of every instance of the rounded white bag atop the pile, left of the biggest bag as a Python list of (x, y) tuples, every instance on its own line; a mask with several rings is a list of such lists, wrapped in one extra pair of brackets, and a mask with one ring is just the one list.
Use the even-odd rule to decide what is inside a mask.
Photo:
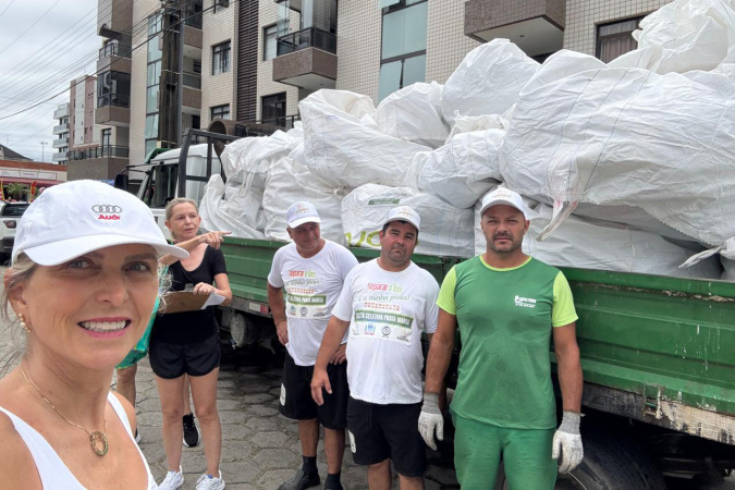
[(502, 114), (518, 99), (518, 93), (538, 70), (531, 60), (507, 39), (493, 39), (465, 56), (450, 75), (442, 94), (442, 115), (454, 125), (460, 115)]

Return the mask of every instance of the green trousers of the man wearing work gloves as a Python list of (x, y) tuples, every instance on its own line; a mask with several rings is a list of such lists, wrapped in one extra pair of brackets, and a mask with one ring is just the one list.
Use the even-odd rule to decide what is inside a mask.
[(454, 420), (454, 467), (462, 490), (494, 488), (501, 456), (510, 490), (551, 490), (556, 461), (551, 458), (555, 429), (506, 429), (468, 418)]

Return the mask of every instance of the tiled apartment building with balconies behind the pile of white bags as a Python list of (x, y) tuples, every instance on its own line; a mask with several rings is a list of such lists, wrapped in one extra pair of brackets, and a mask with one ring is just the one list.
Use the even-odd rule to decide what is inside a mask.
[[(610, 61), (635, 49), (630, 33), (666, 2), (99, 0), (95, 122), (105, 128), (93, 135), (108, 148), (99, 164), (110, 177), (174, 147), (177, 131), (217, 119), (290, 127), (298, 101), (320, 88), (378, 103), (414, 82), (444, 83), (467, 52), (494, 38), (538, 61), (560, 49)], [(79, 136), (76, 125), (70, 138)], [(54, 134), (61, 161), (63, 137)]]

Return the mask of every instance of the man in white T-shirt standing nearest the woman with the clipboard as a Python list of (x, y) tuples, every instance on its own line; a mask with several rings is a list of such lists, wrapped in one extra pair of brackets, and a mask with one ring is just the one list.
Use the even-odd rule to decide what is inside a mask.
[(286, 215), (286, 231), (293, 243), (275, 252), (268, 274), (268, 304), (279, 341), (286, 347), (279, 408), (285, 417), (298, 420), (303, 453), (302, 468), (279, 490), (302, 490), (320, 483), (317, 471), (320, 424), (324, 427), (327, 456), (324, 489), (342, 489), (340, 474), (350, 397), (346, 338), (328, 359), (329, 379), (335, 388), (323, 405), (318, 406), (311, 399), (309, 382), (332, 307), (357, 259), (342, 245), (322, 238), (320, 222), (311, 203), (293, 204)]

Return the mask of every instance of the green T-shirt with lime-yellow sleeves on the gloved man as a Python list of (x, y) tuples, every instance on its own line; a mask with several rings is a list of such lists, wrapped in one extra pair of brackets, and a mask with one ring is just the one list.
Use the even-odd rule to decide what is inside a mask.
[(437, 305), (455, 315), (462, 341), (455, 415), (499, 427), (551, 429), (551, 328), (577, 320), (556, 268), (528, 258), (495, 269), (477, 256), (450, 270)]

